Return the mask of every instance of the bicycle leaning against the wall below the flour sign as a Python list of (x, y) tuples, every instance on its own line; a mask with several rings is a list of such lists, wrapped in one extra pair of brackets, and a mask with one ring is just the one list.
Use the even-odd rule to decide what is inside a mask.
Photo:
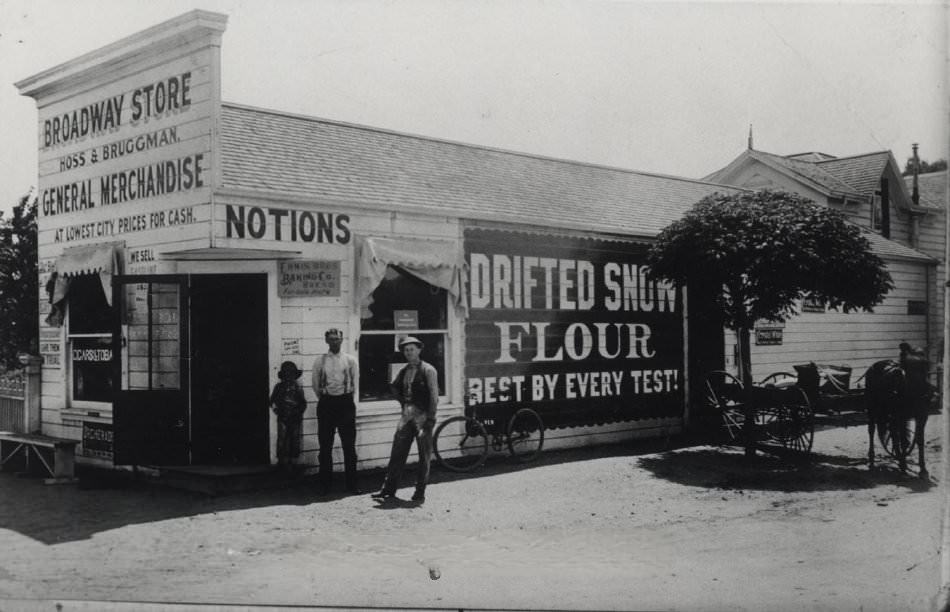
[(439, 464), (452, 472), (471, 472), (488, 458), (489, 436), (496, 452), (506, 446), (520, 463), (533, 461), (544, 446), (544, 423), (531, 408), (505, 414), (487, 414), (465, 398), (465, 415), (442, 421), (433, 435), (433, 451)]

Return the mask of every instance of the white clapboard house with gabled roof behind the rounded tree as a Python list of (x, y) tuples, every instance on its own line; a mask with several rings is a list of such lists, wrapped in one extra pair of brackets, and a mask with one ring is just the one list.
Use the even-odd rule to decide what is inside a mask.
[[(946, 279), (946, 209), (933, 201), (936, 197), (916, 198), (913, 180), (905, 182), (890, 151), (783, 156), (755, 150), (751, 144), (703, 180), (796, 192), (840, 210), (864, 230), (895, 283), (873, 313), (825, 311), (806, 301), (800, 316), (784, 326), (757, 327), (753, 376), (761, 379), (814, 361), (847, 365), (856, 378), (874, 361), (896, 357), (897, 345), (905, 341), (925, 348), (936, 363), (942, 355)], [(727, 339), (727, 362), (734, 365), (728, 345)]]

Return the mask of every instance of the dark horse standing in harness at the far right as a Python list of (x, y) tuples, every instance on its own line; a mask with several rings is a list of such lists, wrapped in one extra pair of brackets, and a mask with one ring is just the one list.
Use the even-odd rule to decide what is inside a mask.
[(927, 383), (927, 361), (908, 355), (901, 364), (886, 359), (868, 368), (865, 375), (864, 399), (868, 413), (868, 467), (874, 467), (874, 429), (879, 435), (890, 433), (894, 454), (902, 472), (907, 471), (907, 454), (912, 441), (906, 435), (907, 423), (914, 419), (914, 442), (917, 443), (920, 477), (929, 477), (924, 464), (924, 427), (927, 425), (930, 386)]

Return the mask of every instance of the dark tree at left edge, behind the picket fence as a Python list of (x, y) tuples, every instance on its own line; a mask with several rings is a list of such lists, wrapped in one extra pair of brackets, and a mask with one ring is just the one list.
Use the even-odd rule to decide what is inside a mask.
[(19, 367), (17, 353), (37, 350), (39, 328), (36, 198), (0, 211), (0, 367)]

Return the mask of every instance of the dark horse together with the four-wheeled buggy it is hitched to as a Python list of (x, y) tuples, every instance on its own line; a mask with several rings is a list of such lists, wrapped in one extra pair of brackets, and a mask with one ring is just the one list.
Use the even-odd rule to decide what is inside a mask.
[[(776, 372), (745, 388), (729, 372), (710, 372), (705, 379), (705, 399), (719, 415), (725, 443), (778, 445), (809, 452), (815, 437), (816, 413), (840, 414), (865, 411), (868, 427), (868, 465), (874, 467), (877, 435), (901, 471), (916, 448), (921, 478), (924, 462), (924, 427), (935, 386), (928, 380), (929, 364), (919, 352), (902, 352), (900, 362), (872, 364), (854, 383), (851, 368), (815, 363), (795, 366), (795, 373)], [(748, 430), (746, 419), (752, 419)]]

